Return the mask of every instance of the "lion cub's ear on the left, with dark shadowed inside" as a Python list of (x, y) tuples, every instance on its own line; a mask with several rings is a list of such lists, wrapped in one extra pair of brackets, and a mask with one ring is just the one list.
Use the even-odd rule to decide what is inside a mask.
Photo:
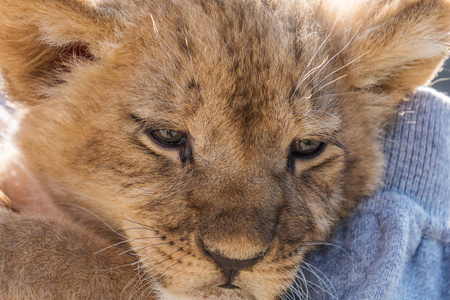
[(32, 104), (76, 63), (101, 59), (119, 12), (112, 1), (1, 0), (0, 69), (7, 93)]

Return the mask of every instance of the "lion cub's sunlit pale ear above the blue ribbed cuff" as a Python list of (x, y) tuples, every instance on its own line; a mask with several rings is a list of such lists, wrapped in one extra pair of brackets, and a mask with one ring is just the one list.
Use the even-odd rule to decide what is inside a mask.
[(337, 2), (322, 12), (336, 22), (351, 86), (399, 99), (430, 82), (448, 54), (450, 0)]

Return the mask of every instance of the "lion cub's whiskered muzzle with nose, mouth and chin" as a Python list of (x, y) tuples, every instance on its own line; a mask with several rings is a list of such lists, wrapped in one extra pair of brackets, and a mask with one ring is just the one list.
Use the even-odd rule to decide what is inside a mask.
[[(203, 217), (205, 226), (197, 211), (168, 224), (133, 221), (134, 228), (127, 232), (152, 286), (170, 295), (162, 299), (276, 299), (289, 288), (304, 254), (312, 249), (305, 241), (320, 234), (307, 226), (307, 218), (288, 217), (286, 207), (272, 212), (259, 226), (255, 215), (235, 208), (232, 214), (218, 209), (215, 216), (209, 211), (209, 217)], [(230, 215), (233, 222), (228, 222)], [(144, 217), (142, 222), (153, 219)], [(212, 231), (217, 223), (221, 230)]]

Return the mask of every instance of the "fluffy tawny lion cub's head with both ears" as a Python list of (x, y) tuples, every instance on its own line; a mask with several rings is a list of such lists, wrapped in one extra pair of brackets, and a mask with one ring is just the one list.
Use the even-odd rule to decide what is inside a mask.
[(376, 188), (378, 135), (444, 59), (450, 4), (334, 3), (2, 1), (23, 163), (129, 241), (136, 295), (273, 299)]

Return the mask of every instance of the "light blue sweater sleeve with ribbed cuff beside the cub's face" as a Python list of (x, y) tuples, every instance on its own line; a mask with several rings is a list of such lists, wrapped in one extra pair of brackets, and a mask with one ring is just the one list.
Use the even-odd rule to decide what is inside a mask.
[(450, 299), (450, 100), (419, 89), (384, 152), (384, 187), (308, 256), (285, 299)]

